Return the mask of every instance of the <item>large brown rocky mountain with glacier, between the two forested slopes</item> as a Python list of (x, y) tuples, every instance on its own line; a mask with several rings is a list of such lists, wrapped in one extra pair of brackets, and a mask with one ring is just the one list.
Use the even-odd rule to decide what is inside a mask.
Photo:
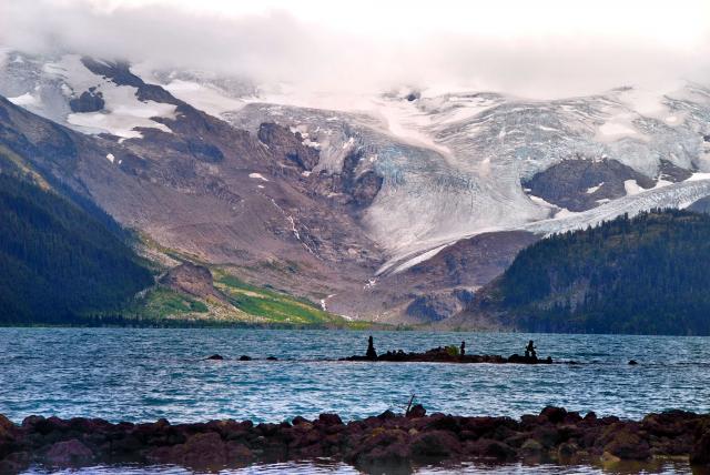
[(545, 235), (710, 196), (702, 84), (342, 97), (3, 55), (1, 143), (162, 249), (355, 320), (446, 320)]

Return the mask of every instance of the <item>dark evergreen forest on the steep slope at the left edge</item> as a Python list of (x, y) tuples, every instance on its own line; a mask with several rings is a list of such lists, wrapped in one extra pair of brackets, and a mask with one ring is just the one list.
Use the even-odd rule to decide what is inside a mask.
[(102, 221), (0, 161), (0, 324), (74, 323), (152, 284)]

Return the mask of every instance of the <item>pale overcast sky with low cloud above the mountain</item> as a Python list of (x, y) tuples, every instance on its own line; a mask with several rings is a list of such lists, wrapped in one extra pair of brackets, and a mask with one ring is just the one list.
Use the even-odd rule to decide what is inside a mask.
[(710, 84), (710, 1), (1, 0), (0, 43), (285, 82), (548, 98)]

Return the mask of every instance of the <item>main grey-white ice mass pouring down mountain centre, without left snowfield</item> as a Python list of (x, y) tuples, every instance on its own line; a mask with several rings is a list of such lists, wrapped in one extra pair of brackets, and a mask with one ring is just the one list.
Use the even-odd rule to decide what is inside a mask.
[[(253, 102), (225, 118), (252, 131), (270, 120), (297, 129), (321, 144), (316, 172), (338, 173), (349, 151), (363, 150), (358, 170), (372, 169), (384, 181), (362, 223), (388, 253), (378, 272), (393, 272), (481, 232), (582, 220), (587, 214), (528, 196), (520, 185), (567, 159), (618, 160), (650, 179), (658, 176), (661, 160), (710, 172), (699, 133), (710, 133), (710, 94), (689, 88), (673, 99), (661, 91), (635, 95), (615, 90), (554, 101), (487, 92), (415, 101), (396, 94), (311, 101), (296, 92), (271, 95), (277, 103)], [(333, 109), (321, 109), (325, 105)], [(682, 120), (671, 125), (670, 117)], [(627, 199), (647, 202), (649, 193), (667, 189), (674, 185), (660, 180), (643, 190), (631, 181)], [(615, 202), (598, 204), (622, 212)]]

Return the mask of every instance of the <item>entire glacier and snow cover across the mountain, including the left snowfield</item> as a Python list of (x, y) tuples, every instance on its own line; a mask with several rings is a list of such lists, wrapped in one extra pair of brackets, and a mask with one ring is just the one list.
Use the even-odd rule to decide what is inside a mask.
[[(174, 117), (173, 105), (139, 101), (132, 88), (93, 74), (78, 55), (3, 54), (0, 93), (40, 115), (84, 133), (120, 138), (140, 137), (136, 128), (170, 131), (152, 118)], [(550, 234), (622, 213), (683, 208), (710, 195), (703, 174), (710, 172), (710, 89), (702, 84), (679, 82), (661, 91), (621, 87), (555, 100), (407, 88), (343, 97), (200, 71), (155, 71), (149, 64), (132, 71), (236, 128), (256, 132), (260, 124), (275, 122), (297, 132), (320, 152), (305, 179), (339, 173), (346, 156), (359, 152), (356, 172), (372, 170), (383, 179), (359, 215), (367, 235), (388, 255), (376, 274), (402, 272), (486, 232)], [(72, 112), (67, 98), (88, 88), (104, 94), (105, 110)], [(599, 200), (584, 212), (560, 209), (524, 189), (521, 182), (566, 160), (616, 160), (656, 185), (643, 189), (629, 181), (625, 196)], [(670, 182), (661, 176), (662, 162), (694, 174)]]

